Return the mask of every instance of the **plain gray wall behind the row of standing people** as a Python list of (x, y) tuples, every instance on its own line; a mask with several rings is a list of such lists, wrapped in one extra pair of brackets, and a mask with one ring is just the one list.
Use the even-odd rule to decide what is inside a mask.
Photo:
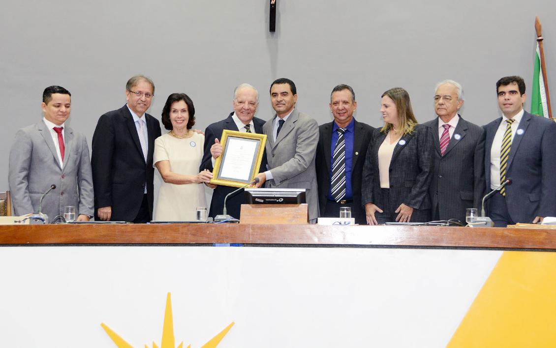
[(483, 125), (499, 114), (498, 78), (532, 83), (535, 15), (544, 19), (548, 79), (556, 81), (556, 3), (547, 0), (277, 2), (277, 32), (269, 33), (264, 0), (4, 1), (0, 190), (13, 134), (41, 119), (42, 90), (52, 84), (73, 94), (69, 124), (89, 143), (98, 117), (125, 103), (125, 83), (137, 73), (155, 81), (152, 115), (160, 119), (168, 94), (185, 92), (200, 129), (226, 117), (242, 82), (260, 90), (257, 116), (269, 119), (268, 88), (279, 77), (294, 80), (299, 109), (319, 124), (332, 119), (332, 87), (350, 84), (356, 117), (375, 127), (386, 89), (407, 89), (425, 122), (434, 117), (435, 83), (451, 78), (465, 89), (463, 116)]

